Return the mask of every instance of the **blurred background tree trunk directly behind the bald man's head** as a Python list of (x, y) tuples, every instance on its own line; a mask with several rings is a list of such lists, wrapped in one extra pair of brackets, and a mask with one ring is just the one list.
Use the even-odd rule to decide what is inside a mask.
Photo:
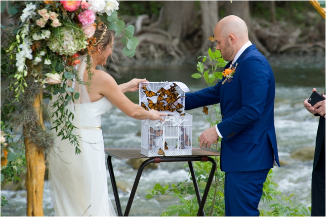
[(251, 27), (251, 20), (249, 14), (249, 1), (227, 1), (225, 4), (225, 16), (236, 15), (244, 20), (248, 27), (249, 40), (256, 45), (257, 49), (264, 55), (269, 55), (267, 49), (257, 39), (253, 28)]

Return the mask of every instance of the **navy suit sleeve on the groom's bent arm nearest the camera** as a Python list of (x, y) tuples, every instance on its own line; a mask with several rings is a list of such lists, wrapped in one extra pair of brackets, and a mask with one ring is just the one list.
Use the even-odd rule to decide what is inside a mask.
[(225, 140), (230, 139), (228, 135), (237, 135), (260, 119), (267, 101), (270, 85), (270, 74), (266, 66), (268, 63), (251, 56), (242, 64), (244, 69), (240, 75), (242, 107), (234, 115), (217, 124)]

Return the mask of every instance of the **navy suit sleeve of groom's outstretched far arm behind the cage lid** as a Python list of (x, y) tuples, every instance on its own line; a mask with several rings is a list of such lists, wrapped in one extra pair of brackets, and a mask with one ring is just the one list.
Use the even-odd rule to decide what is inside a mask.
[(206, 87), (193, 93), (186, 93), (185, 110), (220, 103), (221, 83), (222, 81), (219, 81), (215, 86)]

